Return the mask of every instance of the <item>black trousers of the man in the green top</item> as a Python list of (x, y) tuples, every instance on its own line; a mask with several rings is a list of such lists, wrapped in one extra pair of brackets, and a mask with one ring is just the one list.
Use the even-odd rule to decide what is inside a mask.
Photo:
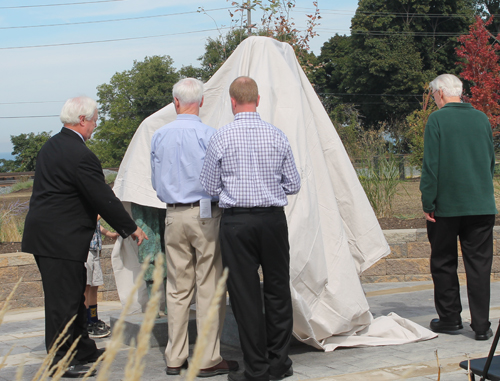
[(434, 303), (441, 320), (458, 321), (462, 312), (457, 275), (458, 236), (467, 277), (471, 327), (478, 332), (484, 332), (490, 327), (494, 224), (494, 215), (436, 217), (434, 223), (427, 221)]

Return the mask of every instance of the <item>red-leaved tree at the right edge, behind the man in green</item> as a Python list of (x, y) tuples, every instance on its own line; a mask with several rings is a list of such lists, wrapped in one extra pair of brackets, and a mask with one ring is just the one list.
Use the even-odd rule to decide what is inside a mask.
[(492, 20), (493, 16), (485, 23), (476, 17), (469, 34), (458, 38), (461, 46), (456, 48), (456, 52), (465, 61), (457, 62), (462, 66), (460, 76), (472, 84), (470, 96), (464, 96), (464, 100), (484, 112), (491, 127), (496, 128), (500, 124), (500, 65), (497, 54), (500, 34), (495, 39), (486, 29)]

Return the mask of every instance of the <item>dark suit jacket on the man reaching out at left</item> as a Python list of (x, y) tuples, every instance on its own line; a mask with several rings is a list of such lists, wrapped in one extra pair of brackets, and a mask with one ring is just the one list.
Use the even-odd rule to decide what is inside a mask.
[(82, 138), (63, 128), (38, 153), (22, 250), (85, 262), (100, 214), (123, 238), (137, 226)]

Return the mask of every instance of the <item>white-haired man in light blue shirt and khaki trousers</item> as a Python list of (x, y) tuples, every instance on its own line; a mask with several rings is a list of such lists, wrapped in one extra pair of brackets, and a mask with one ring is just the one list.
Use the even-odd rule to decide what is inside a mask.
[[(201, 122), (203, 83), (185, 78), (175, 84), (177, 119), (153, 135), (151, 173), (158, 198), (167, 204), (165, 248), (167, 257), (168, 343), (167, 374), (178, 375), (188, 366), (189, 305), (196, 285), (197, 326), (203, 325), (222, 275), (219, 245), (221, 211), (199, 177), (208, 142), (216, 130)], [(225, 315), (221, 301), (218, 324), (210, 331), (199, 377), (237, 370), (236, 361), (220, 355), (220, 334)]]

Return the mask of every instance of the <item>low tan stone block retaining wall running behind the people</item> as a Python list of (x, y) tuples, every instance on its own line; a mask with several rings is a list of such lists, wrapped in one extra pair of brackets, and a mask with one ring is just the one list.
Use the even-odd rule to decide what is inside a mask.
[[(425, 229), (385, 230), (385, 238), (391, 247), (391, 254), (378, 261), (361, 275), (363, 283), (429, 281), (430, 245)], [(492, 280), (500, 279), (500, 226), (493, 231)], [(104, 285), (99, 287), (98, 301), (119, 300), (111, 266), (113, 245), (106, 245), (101, 252), (101, 267)], [(461, 253), (459, 252), (459, 255)], [(461, 256), (458, 273), (465, 280)], [(20, 277), (20, 284), (11, 308), (43, 306), (43, 290), (40, 273), (31, 254), (0, 254), (0, 307)]]

